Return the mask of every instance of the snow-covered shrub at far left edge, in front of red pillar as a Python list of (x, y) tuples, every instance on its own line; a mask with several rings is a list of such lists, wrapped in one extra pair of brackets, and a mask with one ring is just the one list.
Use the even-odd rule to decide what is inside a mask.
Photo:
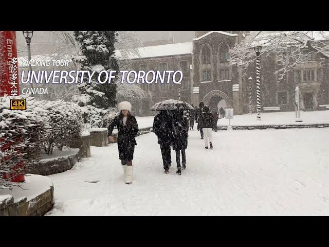
[[(50, 127), (38, 100), (29, 97), (26, 110), (10, 110), (10, 98), (13, 97), (0, 97), (0, 174), (14, 177), (25, 174), (40, 160), (40, 150)], [(0, 179), (0, 186), (10, 179)]]

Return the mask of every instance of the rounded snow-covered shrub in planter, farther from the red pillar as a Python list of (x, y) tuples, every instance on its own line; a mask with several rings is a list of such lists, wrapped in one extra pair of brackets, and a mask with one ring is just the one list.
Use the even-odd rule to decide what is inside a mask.
[(50, 134), (46, 137), (44, 150), (51, 154), (54, 147), (62, 150), (64, 146), (79, 138), (82, 131), (81, 109), (76, 103), (63, 100), (42, 101), (47, 110)]

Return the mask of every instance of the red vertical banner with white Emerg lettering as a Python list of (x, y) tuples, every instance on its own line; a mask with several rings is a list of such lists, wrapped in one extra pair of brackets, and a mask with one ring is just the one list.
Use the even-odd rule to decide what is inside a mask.
[(0, 96), (20, 95), (16, 31), (0, 31)]

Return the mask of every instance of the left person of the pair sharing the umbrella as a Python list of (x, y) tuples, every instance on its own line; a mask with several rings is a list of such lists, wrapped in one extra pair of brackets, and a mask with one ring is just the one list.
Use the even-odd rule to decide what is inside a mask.
[(169, 167), (171, 166), (172, 122), (172, 113), (168, 110), (161, 110), (153, 120), (153, 133), (158, 137), (165, 173), (169, 173)]

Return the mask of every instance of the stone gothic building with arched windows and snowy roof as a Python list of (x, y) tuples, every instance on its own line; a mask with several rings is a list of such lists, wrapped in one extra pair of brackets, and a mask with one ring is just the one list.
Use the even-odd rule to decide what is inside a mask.
[[(191, 42), (140, 47), (139, 56), (123, 59), (133, 70), (181, 70), (181, 100), (198, 105), (200, 101), (210, 109), (233, 108), (234, 115), (249, 113), (249, 90), (252, 112), (255, 112), (255, 66), (244, 73), (228, 62), (229, 49), (240, 42), (249, 31), (195, 31)], [(261, 58), (262, 111), (276, 107), (277, 111), (295, 110), (295, 87), (301, 91), (301, 110), (324, 110), (329, 104), (328, 59), (314, 56), (298, 64), (284, 80), (275, 74), (275, 57)], [(249, 79), (250, 78), (250, 79)], [(251, 85), (251, 87), (249, 86)], [(138, 114), (149, 115), (152, 104), (178, 99), (177, 84), (140, 84), (149, 97), (142, 100)], [(137, 110), (137, 109), (136, 109)]]

